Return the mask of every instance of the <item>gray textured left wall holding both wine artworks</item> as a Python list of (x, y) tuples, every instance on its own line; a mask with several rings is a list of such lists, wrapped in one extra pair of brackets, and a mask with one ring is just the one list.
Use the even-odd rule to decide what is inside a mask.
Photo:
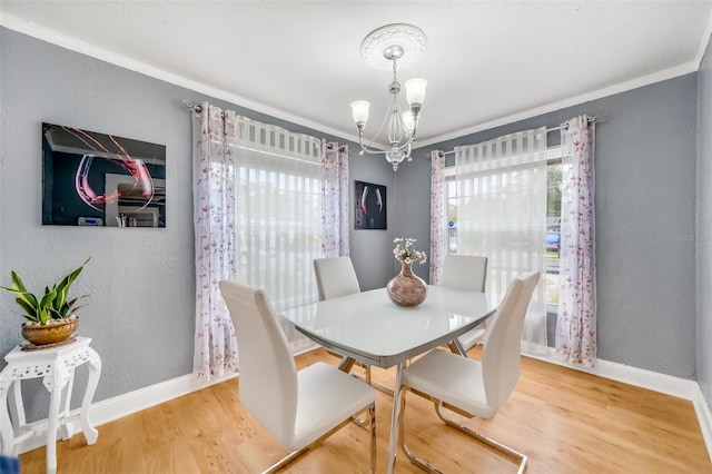
[[(93, 339), (103, 363), (95, 402), (192, 371), (191, 120), (181, 99), (207, 99), (256, 120), (347, 144), (354, 150), (352, 181), (389, 189), (393, 184), (385, 160), (358, 157), (356, 144), (0, 28), (0, 285), (8, 285), (16, 269), (39, 290), (92, 257), (76, 290), (91, 295), (79, 313), (79, 335)], [(166, 145), (167, 227), (42, 226), (42, 121)], [(353, 215), (352, 209), (352, 221)], [(352, 230), (352, 256), (365, 288), (383, 286), (393, 275), (392, 239), (390, 230)], [(18, 313), (11, 295), (0, 293), (0, 355), (22, 340)], [(4, 365), (0, 359), (0, 368)], [(78, 384), (86, 378), (82, 369)], [(38, 387), (39, 381), (30, 381), (24, 391), (29, 419), (47, 416), (49, 396)], [(76, 392), (78, 406), (81, 391)]]

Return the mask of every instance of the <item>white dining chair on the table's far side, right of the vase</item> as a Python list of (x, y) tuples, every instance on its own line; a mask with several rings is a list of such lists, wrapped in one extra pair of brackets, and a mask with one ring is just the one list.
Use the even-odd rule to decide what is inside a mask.
[[(443, 263), (443, 274), (441, 275), (441, 286), (455, 289), (471, 289), (474, 292), (485, 290), (487, 283), (487, 257), (478, 255), (445, 255)], [(475, 345), (485, 338), (487, 323), (482, 323), (477, 327), (468, 330), (457, 338), (457, 352), (466, 355)]]

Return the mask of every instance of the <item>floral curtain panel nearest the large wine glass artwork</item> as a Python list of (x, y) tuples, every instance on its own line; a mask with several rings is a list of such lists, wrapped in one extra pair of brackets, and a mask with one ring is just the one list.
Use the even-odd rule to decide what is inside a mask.
[(238, 371), (237, 339), (220, 293), (220, 279), (235, 279), (235, 169), (228, 144), (235, 112), (207, 102), (192, 115), (192, 179), (196, 248), (196, 339), (194, 372), (209, 381)]

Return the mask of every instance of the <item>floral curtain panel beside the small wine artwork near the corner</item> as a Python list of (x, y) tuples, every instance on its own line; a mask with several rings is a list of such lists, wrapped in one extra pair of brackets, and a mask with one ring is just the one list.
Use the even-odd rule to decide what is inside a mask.
[(322, 147), (322, 249), (324, 257), (348, 256), (348, 147)]

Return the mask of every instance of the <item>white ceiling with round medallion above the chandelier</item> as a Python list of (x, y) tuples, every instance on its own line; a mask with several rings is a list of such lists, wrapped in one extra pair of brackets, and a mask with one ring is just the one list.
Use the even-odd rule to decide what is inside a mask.
[(369, 137), (390, 82), (362, 40), (415, 24), (428, 47), (398, 76), (428, 80), (418, 146), (696, 71), (711, 20), (712, 0), (0, 0), (7, 28), (352, 140), (350, 101), (372, 102)]

